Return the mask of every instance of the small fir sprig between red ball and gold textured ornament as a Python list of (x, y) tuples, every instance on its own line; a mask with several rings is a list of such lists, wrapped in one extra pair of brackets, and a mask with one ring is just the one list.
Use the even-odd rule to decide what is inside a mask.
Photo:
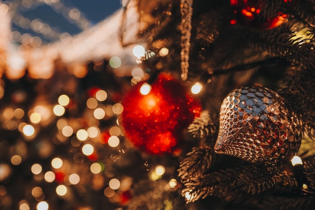
[(212, 136), (216, 131), (216, 126), (213, 123), (209, 112), (203, 111), (200, 117), (196, 117), (194, 121), (188, 126), (188, 132), (190, 132), (194, 138), (205, 138)]

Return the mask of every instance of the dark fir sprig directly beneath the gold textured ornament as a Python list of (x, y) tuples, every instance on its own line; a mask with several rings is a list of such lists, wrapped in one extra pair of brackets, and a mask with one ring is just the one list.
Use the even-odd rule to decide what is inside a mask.
[(263, 166), (249, 166), (243, 170), (238, 179), (238, 185), (248, 194), (256, 194), (266, 191), (275, 186), (282, 175), (275, 168)]

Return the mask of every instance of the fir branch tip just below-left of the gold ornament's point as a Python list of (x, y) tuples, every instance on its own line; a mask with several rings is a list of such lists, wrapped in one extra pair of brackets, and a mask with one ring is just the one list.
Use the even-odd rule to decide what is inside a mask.
[(191, 177), (202, 176), (209, 169), (212, 154), (210, 148), (193, 148), (192, 152), (187, 154), (179, 166), (178, 176), (182, 182), (187, 182)]

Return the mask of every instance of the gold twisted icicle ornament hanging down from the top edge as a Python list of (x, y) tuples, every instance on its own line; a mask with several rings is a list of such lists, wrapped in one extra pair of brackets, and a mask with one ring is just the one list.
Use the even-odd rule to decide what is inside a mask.
[(191, 37), (191, 18), (193, 15), (193, 0), (181, 0), (181, 78), (183, 81), (187, 80), (189, 67), (189, 48)]

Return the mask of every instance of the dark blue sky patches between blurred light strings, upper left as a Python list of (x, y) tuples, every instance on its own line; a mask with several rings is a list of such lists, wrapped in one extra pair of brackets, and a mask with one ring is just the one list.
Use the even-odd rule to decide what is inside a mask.
[[(33, 1), (35, 2), (36, 0)], [(97, 24), (121, 8), (120, 0), (60, 0), (60, 2), (68, 8), (80, 10), (92, 24)], [(69, 23), (62, 14), (56, 13), (51, 7), (44, 4), (30, 9), (20, 7), (18, 13), (30, 20), (39, 18), (59, 32), (68, 32), (71, 35), (81, 32), (80, 28), (75, 24)], [(37, 34), (34, 31), (24, 30), (16, 25), (13, 25), (13, 28), (21, 33), (31, 33), (39, 36), (43, 41), (51, 41), (45, 40), (41, 34)]]

